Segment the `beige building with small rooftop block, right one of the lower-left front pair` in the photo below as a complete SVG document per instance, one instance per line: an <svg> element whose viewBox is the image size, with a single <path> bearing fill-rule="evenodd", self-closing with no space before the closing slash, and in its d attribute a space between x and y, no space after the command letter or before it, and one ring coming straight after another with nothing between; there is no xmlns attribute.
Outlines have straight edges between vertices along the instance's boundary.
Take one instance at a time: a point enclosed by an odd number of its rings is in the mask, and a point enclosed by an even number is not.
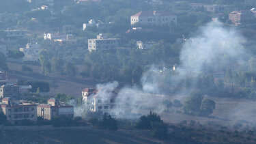
<svg viewBox="0 0 256 144"><path fill-rule="evenodd" d="M39 104L37 107L38 117L51 120L55 117L74 118L74 106L59 102L55 98L50 98L48 104Z"/></svg>

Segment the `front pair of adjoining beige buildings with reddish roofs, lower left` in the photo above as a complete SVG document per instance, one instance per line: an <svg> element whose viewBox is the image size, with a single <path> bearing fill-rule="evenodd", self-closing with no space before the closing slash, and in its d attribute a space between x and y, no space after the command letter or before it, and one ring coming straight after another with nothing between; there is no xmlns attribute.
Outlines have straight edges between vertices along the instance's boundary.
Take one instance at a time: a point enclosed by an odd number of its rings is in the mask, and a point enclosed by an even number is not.
<svg viewBox="0 0 256 144"><path fill-rule="evenodd" d="M12 124L20 124L25 119L35 122L38 117L48 120L55 117L67 117L70 119L74 117L74 106L59 102L54 98L50 98L48 104L37 104L5 97L2 98L0 105L0 111L6 115L7 120Z"/></svg>

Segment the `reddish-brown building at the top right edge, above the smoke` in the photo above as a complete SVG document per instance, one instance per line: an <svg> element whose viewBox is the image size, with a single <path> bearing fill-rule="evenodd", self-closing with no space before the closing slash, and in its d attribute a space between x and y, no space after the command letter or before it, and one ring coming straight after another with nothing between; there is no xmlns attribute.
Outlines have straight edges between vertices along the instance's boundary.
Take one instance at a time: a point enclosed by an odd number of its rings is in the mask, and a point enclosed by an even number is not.
<svg viewBox="0 0 256 144"><path fill-rule="evenodd" d="M229 20L235 25L251 22L255 18L250 10L233 11L229 14Z"/></svg>

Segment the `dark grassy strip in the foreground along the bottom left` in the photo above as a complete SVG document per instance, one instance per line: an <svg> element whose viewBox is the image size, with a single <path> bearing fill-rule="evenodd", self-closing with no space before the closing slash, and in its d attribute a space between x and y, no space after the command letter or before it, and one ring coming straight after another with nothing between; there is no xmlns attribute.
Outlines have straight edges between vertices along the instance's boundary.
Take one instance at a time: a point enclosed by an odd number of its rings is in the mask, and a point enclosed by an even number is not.
<svg viewBox="0 0 256 144"><path fill-rule="evenodd" d="M116 132L93 128L1 128L0 143L165 143L146 136L141 131Z"/></svg>

